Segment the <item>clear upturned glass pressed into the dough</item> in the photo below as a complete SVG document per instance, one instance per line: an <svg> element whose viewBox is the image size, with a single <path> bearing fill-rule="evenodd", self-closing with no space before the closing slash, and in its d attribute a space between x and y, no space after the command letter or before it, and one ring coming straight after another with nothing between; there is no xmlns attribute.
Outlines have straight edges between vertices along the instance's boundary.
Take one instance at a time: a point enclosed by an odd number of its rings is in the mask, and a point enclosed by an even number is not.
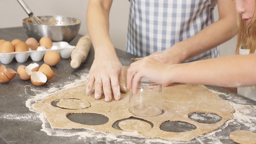
<svg viewBox="0 0 256 144"><path fill-rule="evenodd" d="M158 116L162 114L162 87L146 78L142 78L138 86L138 93L132 94L128 110L136 116Z"/></svg>

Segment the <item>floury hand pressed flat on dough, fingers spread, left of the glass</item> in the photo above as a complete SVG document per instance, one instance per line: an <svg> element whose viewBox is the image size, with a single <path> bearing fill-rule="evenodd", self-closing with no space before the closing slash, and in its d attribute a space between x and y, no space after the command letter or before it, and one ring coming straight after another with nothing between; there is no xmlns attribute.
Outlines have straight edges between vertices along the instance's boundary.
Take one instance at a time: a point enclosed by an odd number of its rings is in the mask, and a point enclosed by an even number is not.
<svg viewBox="0 0 256 144"><path fill-rule="evenodd" d="M106 102L112 100L111 89L114 100L120 100L120 90L125 93L126 86L125 72L117 56L109 56L108 54L100 54L98 57L95 56L86 86L87 94L92 92L93 85L95 88L95 99L101 98L103 88Z"/></svg>

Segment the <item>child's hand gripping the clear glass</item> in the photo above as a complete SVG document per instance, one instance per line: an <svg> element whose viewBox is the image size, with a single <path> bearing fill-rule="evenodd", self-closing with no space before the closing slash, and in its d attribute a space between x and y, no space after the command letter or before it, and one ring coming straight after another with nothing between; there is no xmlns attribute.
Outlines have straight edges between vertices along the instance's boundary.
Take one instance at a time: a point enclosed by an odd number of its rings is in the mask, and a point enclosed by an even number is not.
<svg viewBox="0 0 256 144"><path fill-rule="evenodd" d="M127 88L132 88L132 91L136 94L142 77L168 86L172 82L169 82L166 76L168 76L168 69L172 66L174 65L164 64L152 57L145 57L142 60L133 62L127 70Z"/></svg>

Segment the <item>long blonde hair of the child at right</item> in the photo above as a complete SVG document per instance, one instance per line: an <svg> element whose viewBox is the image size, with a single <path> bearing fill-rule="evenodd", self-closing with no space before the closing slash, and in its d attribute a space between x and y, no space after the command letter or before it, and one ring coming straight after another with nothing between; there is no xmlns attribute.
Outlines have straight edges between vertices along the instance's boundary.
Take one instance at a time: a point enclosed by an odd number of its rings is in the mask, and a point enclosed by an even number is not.
<svg viewBox="0 0 256 144"><path fill-rule="evenodd" d="M255 2L256 8L256 2ZM254 10L255 13L255 10ZM246 21L242 20L242 15L237 14L238 21L238 34L237 34L237 44L235 54L239 54L239 48L241 45L245 49L250 49L250 53L254 53L256 50L256 18L253 18L249 24L246 24Z"/></svg>

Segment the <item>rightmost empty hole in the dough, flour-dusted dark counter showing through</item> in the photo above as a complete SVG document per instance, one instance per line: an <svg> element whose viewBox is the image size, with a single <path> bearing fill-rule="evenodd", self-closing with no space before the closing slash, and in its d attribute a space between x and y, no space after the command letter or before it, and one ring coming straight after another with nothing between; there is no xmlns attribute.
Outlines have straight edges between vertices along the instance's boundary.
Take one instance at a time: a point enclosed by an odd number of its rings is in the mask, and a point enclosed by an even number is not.
<svg viewBox="0 0 256 144"><path fill-rule="evenodd" d="M193 112L188 115L188 118L203 124L215 124L216 122L220 122L222 119L218 114L205 112Z"/></svg>

